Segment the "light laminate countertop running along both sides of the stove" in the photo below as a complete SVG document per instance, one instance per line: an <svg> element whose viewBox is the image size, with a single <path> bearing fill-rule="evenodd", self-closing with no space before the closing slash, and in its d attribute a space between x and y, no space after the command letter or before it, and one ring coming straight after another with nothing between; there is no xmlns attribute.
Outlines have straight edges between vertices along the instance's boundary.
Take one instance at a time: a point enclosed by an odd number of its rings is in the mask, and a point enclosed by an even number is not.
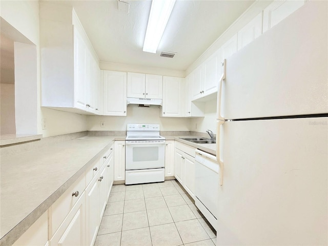
<svg viewBox="0 0 328 246"><path fill-rule="evenodd" d="M112 141L125 137L84 136L1 158L1 244L26 231ZM178 136L165 137L216 154L215 144L199 145Z"/></svg>

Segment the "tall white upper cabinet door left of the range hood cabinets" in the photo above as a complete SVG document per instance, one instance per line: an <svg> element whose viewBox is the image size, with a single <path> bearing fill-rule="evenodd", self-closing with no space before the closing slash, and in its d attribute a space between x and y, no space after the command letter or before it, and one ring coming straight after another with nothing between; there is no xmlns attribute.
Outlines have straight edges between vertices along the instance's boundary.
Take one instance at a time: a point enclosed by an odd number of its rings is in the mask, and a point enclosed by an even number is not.
<svg viewBox="0 0 328 246"><path fill-rule="evenodd" d="M104 70L104 115L127 115L127 73Z"/></svg>

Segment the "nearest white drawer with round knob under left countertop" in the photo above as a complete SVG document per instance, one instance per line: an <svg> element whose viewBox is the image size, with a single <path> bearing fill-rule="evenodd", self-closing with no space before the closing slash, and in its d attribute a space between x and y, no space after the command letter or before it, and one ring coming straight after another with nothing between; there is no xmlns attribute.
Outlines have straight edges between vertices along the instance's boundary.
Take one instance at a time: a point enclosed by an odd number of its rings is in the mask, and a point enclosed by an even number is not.
<svg viewBox="0 0 328 246"><path fill-rule="evenodd" d="M51 219L49 226L49 234L52 236L53 233L57 231L61 222L64 221L68 213L73 208L76 201L79 199L81 194L86 189L86 175L81 175L73 185L67 189L67 191L61 195L51 206ZM78 192L78 195L72 195L75 192Z"/></svg>

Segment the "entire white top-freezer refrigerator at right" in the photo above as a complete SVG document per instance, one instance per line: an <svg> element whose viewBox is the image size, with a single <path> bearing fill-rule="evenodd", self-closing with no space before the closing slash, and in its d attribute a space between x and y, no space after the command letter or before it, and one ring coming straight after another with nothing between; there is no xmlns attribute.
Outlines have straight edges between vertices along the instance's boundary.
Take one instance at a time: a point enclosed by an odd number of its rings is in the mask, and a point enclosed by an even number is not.
<svg viewBox="0 0 328 246"><path fill-rule="evenodd" d="M216 245L328 245L327 23L306 2L226 60Z"/></svg>

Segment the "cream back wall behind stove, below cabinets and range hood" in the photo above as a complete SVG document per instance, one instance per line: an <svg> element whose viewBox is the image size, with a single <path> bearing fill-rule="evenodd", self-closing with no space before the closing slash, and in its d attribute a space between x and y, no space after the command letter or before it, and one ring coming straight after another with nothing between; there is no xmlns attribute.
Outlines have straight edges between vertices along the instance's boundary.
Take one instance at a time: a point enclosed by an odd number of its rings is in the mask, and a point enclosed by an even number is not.
<svg viewBox="0 0 328 246"><path fill-rule="evenodd" d="M190 131L189 118L159 117L159 106L149 108L130 105L127 116L88 116L89 131L126 131L127 124L159 124L161 131ZM100 127L100 121L105 127Z"/></svg>

